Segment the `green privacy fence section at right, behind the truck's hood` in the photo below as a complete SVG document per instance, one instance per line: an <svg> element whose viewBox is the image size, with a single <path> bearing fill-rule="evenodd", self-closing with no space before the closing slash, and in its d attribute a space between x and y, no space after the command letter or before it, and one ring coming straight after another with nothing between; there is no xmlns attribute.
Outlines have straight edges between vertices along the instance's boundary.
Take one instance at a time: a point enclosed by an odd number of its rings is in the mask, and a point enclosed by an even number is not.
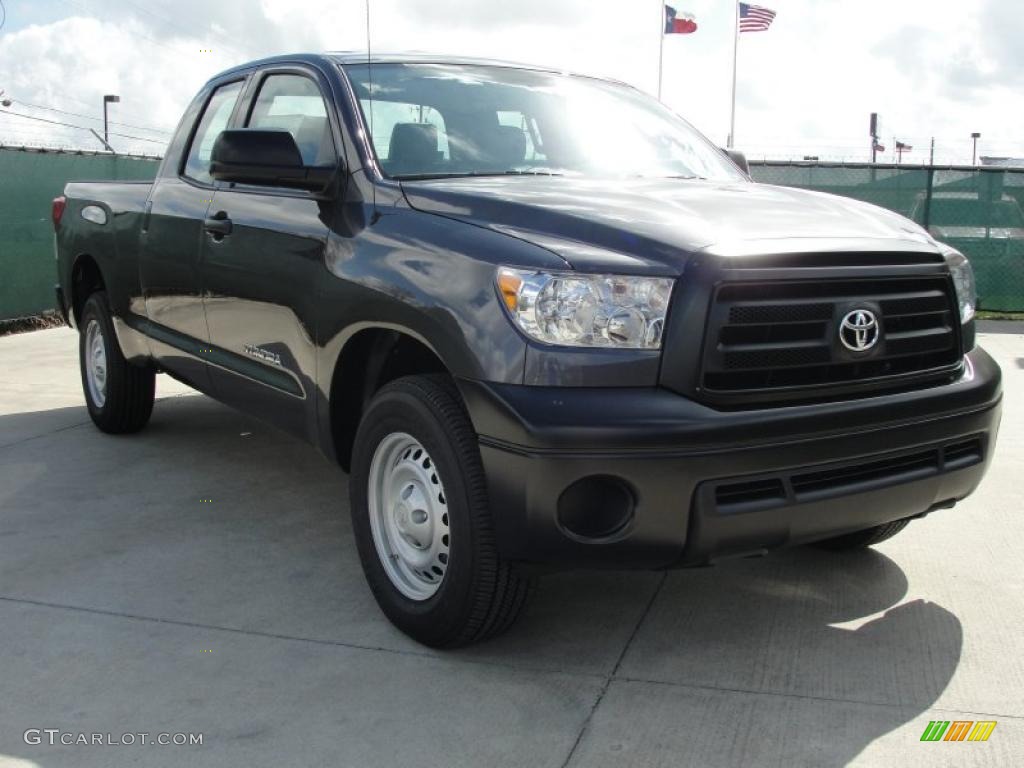
<svg viewBox="0 0 1024 768"><path fill-rule="evenodd" d="M1024 310L1024 169L752 163L754 178L889 208L962 251L980 306Z"/></svg>

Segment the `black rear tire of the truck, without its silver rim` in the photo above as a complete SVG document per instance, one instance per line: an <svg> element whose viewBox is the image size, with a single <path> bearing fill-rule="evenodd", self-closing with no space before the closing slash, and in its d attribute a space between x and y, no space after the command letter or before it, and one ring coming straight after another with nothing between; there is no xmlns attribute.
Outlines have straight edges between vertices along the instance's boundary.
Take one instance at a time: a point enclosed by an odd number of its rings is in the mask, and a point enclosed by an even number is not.
<svg viewBox="0 0 1024 768"><path fill-rule="evenodd" d="M102 402L89 387L90 326L95 324L102 337L105 356L105 385ZM157 390L157 374L152 368L133 366L125 359L114 332L106 294L97 291L89 296L82 307L78 340L79 368L82 372L82 390L92 422L104 432L124 434L137 432L150 421L153 400Z"/></svg>

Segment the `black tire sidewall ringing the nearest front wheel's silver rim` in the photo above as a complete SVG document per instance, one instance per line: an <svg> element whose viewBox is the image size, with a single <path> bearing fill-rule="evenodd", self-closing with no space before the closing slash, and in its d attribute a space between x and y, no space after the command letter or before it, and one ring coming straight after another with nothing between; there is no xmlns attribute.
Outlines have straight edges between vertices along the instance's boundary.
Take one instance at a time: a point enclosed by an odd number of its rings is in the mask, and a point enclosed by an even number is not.
<svg viewBox="0 0 1024 768"><path fill-rule="evenodd" d="M426 600L406 597L384 570L370 526L370 465L380 442L406 432L426 450L437 468L447 502L450 550L444 578ZM399 629L427 644L443 644L445 628L465 622L477 575L476 539L470 494L461 467L478 457L461 456L457 441L431 406L402 389L383 391L373 400L355 437L349 478L352 526L370 588L381 608Z"/></svg>

